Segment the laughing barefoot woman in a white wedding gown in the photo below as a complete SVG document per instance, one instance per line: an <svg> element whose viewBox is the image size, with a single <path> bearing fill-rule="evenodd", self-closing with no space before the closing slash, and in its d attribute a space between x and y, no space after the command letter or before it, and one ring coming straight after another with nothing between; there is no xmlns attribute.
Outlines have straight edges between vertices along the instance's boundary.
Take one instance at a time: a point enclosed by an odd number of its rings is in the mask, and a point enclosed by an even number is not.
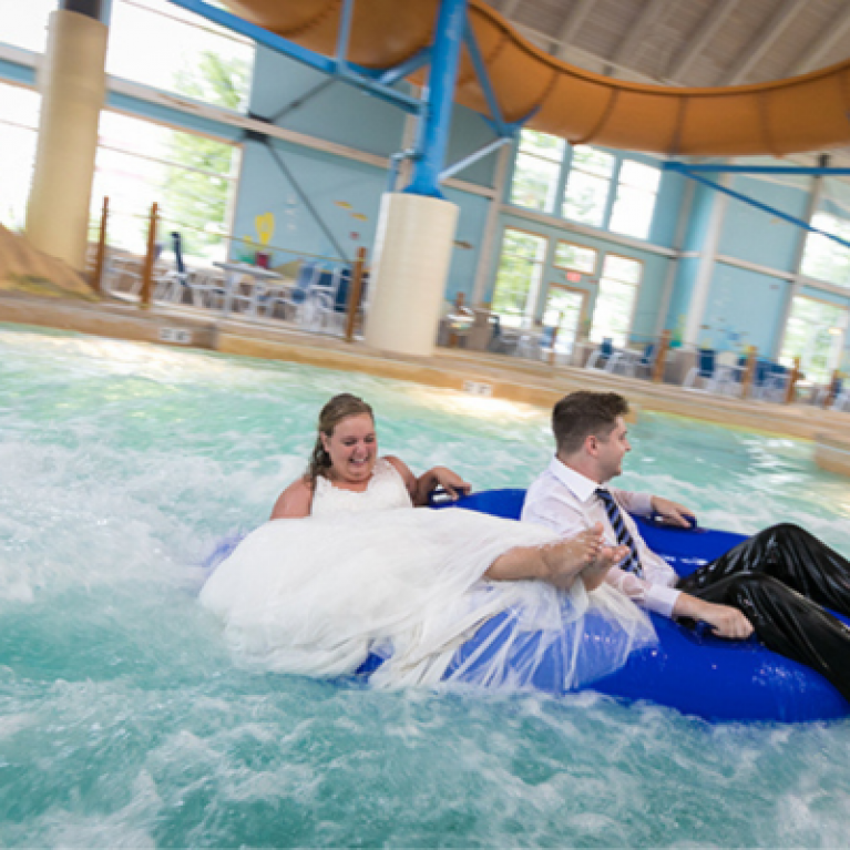
<svg viewBox="0 0 850 850"><path fill-rule="evenodd" d="M443 467L417 478L398 458L380 458L371 408L336 396L319 416L306 474L218 566L201 601L245 660L336 676L377 655L371 682L380 686L523 687L554 654L567 690L654 642L646 615L602 583L626 550L604 546L601 526L562 540L457 508L413 510L438 487L452 498L469 490ZM502 612L509 626L491 629L474 663L452 664ZM586 637L595 618L604 639Z"/></svg>

